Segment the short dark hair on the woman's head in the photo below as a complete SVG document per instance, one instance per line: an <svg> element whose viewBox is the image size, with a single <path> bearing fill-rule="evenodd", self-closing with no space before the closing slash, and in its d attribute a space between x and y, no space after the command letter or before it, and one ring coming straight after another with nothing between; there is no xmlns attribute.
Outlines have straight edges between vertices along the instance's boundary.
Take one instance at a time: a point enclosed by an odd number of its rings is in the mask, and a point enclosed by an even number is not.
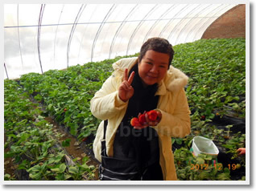
<svg viewBox="0 0 256 191"><path fill-rule="evenodd" d="M145 43L143 43L139 55L138 55L138 63L142 61L143 56L147 51L157 51L160 53L164 53L170 56L169 58L169 67L171 65L171 61L173 59L174 51L172 49L171 44L167 41L167 39L154 37L151 39L147 39Z"/></svg>

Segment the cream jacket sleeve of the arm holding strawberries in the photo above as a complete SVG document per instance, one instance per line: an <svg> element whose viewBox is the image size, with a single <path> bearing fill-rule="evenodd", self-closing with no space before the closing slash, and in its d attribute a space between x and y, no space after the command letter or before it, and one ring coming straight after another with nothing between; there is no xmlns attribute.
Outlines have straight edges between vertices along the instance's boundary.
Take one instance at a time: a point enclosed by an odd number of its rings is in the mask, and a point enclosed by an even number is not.
<svg viewBox="0 0 256 191"><path fill-rule="evenodd" d="M175 110L172 114L164 112L159 124L153 128L165 136L184 137L190 133L190 110L184 89L181 89L175 102Z"/></svg>

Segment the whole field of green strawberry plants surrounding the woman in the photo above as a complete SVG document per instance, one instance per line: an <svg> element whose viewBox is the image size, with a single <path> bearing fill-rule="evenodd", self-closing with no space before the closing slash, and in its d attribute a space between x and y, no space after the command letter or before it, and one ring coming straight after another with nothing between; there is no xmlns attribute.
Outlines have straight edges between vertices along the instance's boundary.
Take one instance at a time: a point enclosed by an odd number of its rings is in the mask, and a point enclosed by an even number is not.
<svg viewBox="0 0 256 191"><path fill-rule="evenodd" d="M189 76L192 112L191 134L172 139L178 179L246 180L245 156L236 152L246 147L246 40L201 39L174 50L172 65ZM97 180L92 144L100 121L89 104L118 59L5 79L6 181ZM193 156L194 136L213 140L225 160Z"/></svg>

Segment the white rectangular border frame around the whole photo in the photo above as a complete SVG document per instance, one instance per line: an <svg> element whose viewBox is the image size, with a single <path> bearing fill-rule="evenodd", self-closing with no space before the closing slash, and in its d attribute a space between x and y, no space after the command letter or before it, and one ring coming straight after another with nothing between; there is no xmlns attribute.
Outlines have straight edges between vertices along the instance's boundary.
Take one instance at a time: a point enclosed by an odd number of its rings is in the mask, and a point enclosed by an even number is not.
<svg viewBox="0 0 256 191"><path fill-rule="evenodd" d="M123 0L122 0L123 1ZM73 0L67 1L56 1L56 0L47 0L47 1L13 1L9 0L6 1L4 0L1 2L1 10L3 13L3 5L4 4L11 4L11 3L155 3L153 0L142 0L142 1L129 1L129 2L122 2L118 0L113 0L113 1L98 1L98 0L86 0L86 1L77 1ZM168 0L159 0L157 3L226 3L226 4L246 4L246 164L250 164L250 2L249 0L215 0L215 1L209 1L209 0L194 0L194 1L189 1L189 0L173 0L173 1L168 1ZM3 14L2 14L3 15ZM3 26L3 16L0 17L0 23ZM1 42L3 42L3 27L1 27ZM4 63L4 54L3 54L3 43L1 43L1 61ZM3 64L1 67L1 79L3 79ZM3 92L3 80L1 80L0 83L1 87L1 92ZM0 121L1 121L1 132L2 136L4 135L4 123L3 123L3 117L4 117L4 105L3 105L3 99L4 96L3 94L0 94L0 100L1 100L1 111L0 111ZM3 153L3 145L4 145L4 139L1 138L1 153ZM2 155L1 155L2 156ZM246 181L3 181L4 177L4 170L3 170L3 156L0 161L1 165L1 183L2 185L250 185L250 165L246 165ZM254 165L254 164L251 164ZM5 187L6 188L6 187ZM103 189L103 188L102 188Z"/></svg>

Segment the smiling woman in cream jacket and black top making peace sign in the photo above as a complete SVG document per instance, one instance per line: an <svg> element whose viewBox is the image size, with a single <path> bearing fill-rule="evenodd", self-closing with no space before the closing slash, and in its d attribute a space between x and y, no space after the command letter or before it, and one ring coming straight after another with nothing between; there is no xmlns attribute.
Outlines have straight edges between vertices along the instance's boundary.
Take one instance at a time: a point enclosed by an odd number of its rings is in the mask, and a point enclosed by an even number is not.
<svg viewBox="0 0 256 191"><path fill-rule="evenodd" d="M134 161L134 165L123 167L138 172L133 180L177 179L171 137L190 133L190 111L184 91L188 77L171 66L173 55L166 39L148 39L138 58L121 59L113 64L113 75L91 100L93 116L108 122L107 156ZM157 111L156 122L151 123L147 116L142 128L130 125L132 117L151 110ZM93 142L99 161L103 135L102 121Z"/></svg>

